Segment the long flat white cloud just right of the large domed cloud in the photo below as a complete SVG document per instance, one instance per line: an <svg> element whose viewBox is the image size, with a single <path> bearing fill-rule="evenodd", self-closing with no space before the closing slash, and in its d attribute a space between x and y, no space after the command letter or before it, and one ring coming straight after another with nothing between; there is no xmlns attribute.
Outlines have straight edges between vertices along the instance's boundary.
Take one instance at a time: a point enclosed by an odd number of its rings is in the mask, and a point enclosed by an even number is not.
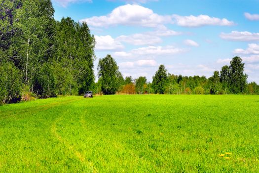
<svg viewBox="0 0 259 173"><path fill-rule="evenodd" d="M234 22L228 21L223 18L210 17L208 15L199 15L199 16L180 16L173 15L173 18L176 20L177 25L183 27L200 27L206 25L218 25L218 26L232 26L235 25Z"/></svg>

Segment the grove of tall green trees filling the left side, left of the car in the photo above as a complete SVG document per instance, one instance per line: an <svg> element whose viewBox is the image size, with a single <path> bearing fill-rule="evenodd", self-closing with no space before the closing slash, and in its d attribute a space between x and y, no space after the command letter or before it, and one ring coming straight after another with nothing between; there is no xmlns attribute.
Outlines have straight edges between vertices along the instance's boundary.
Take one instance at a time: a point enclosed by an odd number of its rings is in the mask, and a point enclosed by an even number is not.
<svg viewBox="0 0 259 173"><path fill-rule="evenodd" d="M51 0L0 0L0 103L90 89L94 47L86 23L54 20Z"/></svg>

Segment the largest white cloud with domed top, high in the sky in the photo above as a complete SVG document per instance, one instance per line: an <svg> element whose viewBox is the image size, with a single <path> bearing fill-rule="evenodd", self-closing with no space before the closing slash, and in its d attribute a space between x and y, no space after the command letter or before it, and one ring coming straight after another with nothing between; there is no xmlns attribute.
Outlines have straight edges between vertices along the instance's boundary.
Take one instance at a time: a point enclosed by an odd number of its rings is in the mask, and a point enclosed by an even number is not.
<svg viewBox="0 0 259 173"><path fill-rule="evenodd" d="M143 27L157 27L164 23L173 23L171 16L161 16L151 9L137 4L127 4L112 10L106 16L94 16L80 20L93 27L107 27L112 25L135 25Z"/></svg>

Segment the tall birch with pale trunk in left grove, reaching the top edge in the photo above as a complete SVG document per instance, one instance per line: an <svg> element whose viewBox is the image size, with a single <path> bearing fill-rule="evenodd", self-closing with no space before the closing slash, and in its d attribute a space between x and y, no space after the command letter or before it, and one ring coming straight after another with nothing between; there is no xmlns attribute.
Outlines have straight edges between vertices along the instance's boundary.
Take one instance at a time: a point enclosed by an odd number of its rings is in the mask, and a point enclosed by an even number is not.
<svg viewBox="0 0 259 173"><path fill-rule="evenodd" d="M10 54L23 74L24 84L33 86L33 78L53 48L54 9L50 0L21 0L21 8L13 15L16 34Z"/></svg>

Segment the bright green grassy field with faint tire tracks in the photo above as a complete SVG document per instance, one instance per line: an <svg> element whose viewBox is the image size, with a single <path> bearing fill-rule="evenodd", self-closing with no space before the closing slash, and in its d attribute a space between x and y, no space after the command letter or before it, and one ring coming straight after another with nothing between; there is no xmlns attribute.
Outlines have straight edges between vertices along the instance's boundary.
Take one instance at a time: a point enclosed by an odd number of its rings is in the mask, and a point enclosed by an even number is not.
<svg viewBox="0 0 259 173"><path fill-rule="evenodd" d="M259 96L70 96L3 105L0 172L259 172Z"/></svg>

